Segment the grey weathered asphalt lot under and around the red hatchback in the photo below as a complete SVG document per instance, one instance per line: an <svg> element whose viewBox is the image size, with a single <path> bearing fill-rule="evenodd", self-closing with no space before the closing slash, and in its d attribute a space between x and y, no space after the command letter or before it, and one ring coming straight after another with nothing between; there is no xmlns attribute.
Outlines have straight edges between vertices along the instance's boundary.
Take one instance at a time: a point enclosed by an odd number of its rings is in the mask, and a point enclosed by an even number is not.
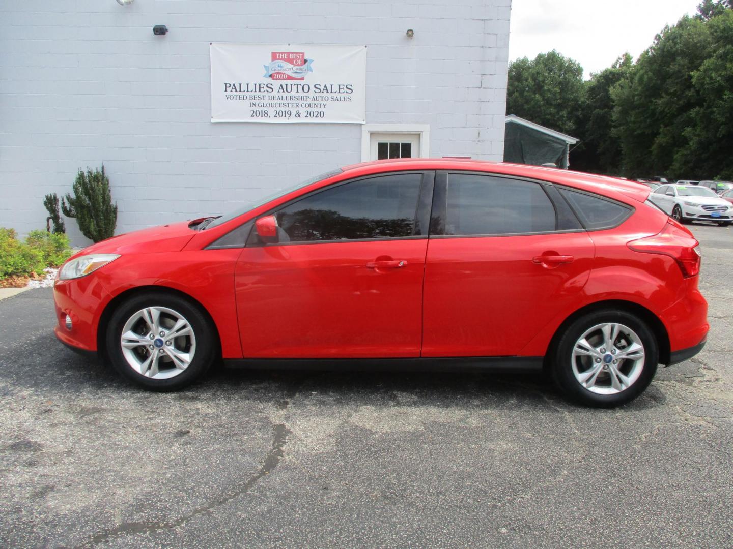
<svg viewBox="0 0 733 549"><path fill-rule="evenodd" d="M615 410L542 378L250 373L173 394L0 302L0 546L733 545L733 228L693 225L707 347Z"/></svg>

